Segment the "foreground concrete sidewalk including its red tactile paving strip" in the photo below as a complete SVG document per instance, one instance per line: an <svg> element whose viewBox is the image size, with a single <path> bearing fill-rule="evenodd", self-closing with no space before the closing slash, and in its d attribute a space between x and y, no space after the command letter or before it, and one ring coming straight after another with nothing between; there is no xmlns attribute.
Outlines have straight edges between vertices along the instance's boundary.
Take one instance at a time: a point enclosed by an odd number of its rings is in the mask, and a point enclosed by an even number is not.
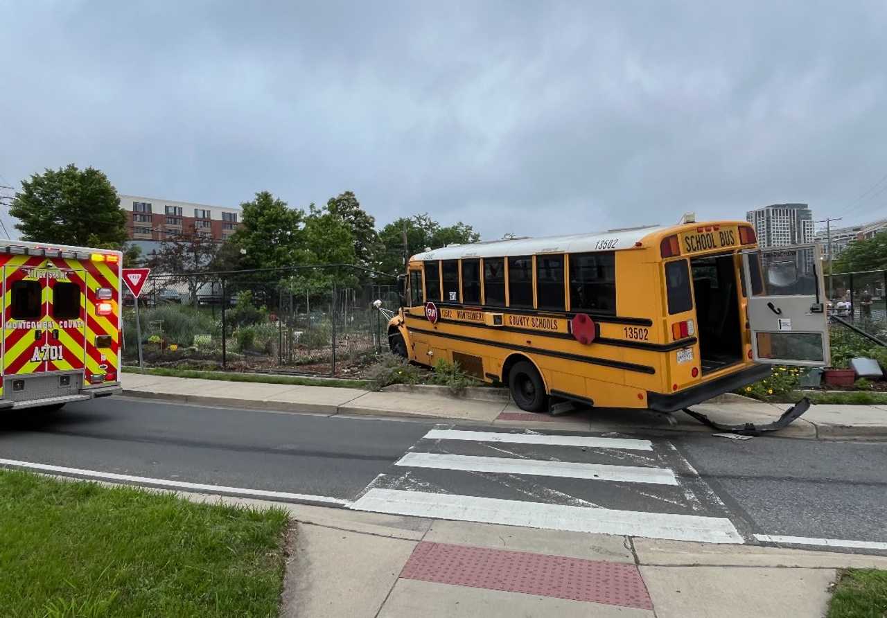
<svg viewBox="0 0 887 618"><path fill-rule="evenodd" d="M881 556L277 506L297 522L287 617L822 616L837 569L887 568Z"/></svg>

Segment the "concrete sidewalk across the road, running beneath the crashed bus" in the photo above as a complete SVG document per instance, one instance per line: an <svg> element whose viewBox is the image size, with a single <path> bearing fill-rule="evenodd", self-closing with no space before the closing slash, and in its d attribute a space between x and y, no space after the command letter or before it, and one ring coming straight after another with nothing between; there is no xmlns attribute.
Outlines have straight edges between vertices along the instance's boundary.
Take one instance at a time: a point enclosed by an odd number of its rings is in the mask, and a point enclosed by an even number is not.
<svg viewBox="0 0 887 618"><path fill-rule="evenodd" d="M703 431L683 412L677 425L648 411L592 409L551 417L531 414L500 400L466 399L426 392L371 392L358 388L290 386L230 382L214 379L166 378L122 373L123 394L179 403L229 408L311 412L326 415L371 415L451 419L491 426L565 429L570 431L632 432L642 429ZM702 403L694 406L711 419L725 423L766 423L779 418L789 404L753 401ZM887 406L812 405L810 410L778 434L797 438L887 438Z"/></svg>

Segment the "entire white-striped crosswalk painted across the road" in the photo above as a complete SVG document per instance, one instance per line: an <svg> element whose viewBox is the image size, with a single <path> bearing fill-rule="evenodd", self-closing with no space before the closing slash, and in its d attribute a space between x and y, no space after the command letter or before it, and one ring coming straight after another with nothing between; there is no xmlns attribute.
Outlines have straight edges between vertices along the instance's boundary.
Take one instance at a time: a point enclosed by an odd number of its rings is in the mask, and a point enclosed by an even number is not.
<svg viewBox="0 0 887 618"><path fill-rule="evenodd" d="M608 535L744 542L723 516L723 503L670 443L620 437L436 428L349 508Z"/></svg>

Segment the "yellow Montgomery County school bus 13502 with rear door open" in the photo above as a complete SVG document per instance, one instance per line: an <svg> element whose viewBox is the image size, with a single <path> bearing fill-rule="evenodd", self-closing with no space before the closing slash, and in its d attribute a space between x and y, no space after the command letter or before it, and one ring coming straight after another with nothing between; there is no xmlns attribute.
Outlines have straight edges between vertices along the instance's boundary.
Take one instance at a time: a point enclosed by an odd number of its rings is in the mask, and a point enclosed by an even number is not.
<svg viewBox="0 0 887 618"><path fill-rule="evenodd" d="M816 245L757 249L748 223L683 223L447 246L413 255L392 351L458 362L554 398L676 411L765 378L767 364L828 364Z"/></svg>

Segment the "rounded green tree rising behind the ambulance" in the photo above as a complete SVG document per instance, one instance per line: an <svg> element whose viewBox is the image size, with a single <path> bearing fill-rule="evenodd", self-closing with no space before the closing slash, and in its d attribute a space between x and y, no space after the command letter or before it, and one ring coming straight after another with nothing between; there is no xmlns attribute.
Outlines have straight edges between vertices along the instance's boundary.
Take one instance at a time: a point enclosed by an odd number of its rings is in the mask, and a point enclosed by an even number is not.
<svg viewBox="0 0 887 618"><path fill-rule="evenodd" d="M127 215L117 190L95 168L47 169L21 182L10 215L22 240L120 249L127 239Z"/></svg>

